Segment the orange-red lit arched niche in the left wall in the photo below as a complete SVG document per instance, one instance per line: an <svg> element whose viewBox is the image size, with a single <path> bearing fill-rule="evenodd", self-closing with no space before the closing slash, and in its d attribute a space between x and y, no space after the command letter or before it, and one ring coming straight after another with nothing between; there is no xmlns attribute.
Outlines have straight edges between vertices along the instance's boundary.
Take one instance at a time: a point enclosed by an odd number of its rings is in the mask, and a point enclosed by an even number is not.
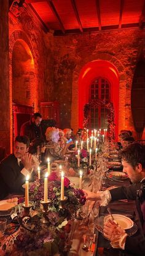
<svg viewBox="0 0 145 256"><path fill-rule="evenodd" d="M13 137L20 134L22 123L29 120L37 98L33 55L25 41L19 39L12 51Z"/></svg>

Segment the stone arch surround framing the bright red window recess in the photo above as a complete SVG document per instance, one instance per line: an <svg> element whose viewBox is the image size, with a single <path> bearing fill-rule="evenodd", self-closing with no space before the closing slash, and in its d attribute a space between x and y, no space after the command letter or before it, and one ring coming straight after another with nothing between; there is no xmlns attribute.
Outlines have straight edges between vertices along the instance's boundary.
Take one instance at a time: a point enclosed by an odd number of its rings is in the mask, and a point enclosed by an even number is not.
<svg viewBox="0 0 145 256"><path fill-rule="evenodd" d="M73 73L73 81L72 81L72 106L71 106L71 127L74 130L77 130L79 127L79 77L80 72L88 62L93 61L107 61L111 63L117 70L119 74L119 126L118 130L125 128L125 92L126 92L126 84L127 77L125 74L125 69L122 63L116 59L114 56L106 53L99 53L90 56L88 59L84 59L84 62L78 64ZM86 70L88 72L88 70Z"/></svg>

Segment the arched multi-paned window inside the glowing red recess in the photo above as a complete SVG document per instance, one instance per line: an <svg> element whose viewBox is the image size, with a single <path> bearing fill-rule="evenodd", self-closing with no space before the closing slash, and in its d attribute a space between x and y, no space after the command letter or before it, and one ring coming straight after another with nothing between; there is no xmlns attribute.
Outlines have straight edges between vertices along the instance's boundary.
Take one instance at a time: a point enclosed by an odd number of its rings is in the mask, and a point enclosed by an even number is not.
<svg viewBox="0 0 145 256"><path fill-rule="evenodd" d="M108 100L111 97L111 85L109 81L103 77L93 80L90 85L90 100ZM108 109L104 105L98 105L90 109L90 129L106 129L108 127Z"/></svg>

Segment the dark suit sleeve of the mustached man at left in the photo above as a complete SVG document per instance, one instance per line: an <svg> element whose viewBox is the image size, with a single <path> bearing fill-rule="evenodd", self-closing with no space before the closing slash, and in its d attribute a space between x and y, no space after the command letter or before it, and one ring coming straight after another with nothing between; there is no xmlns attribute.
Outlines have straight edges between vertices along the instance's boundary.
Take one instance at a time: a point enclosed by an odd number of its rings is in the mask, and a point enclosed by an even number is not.
<svg viewBox="0 0 145 256"><path fill-rule="evenodd" d="M10 193L23 191L22 184L25 183L25 176L20 173L19 166L1 163L0 172L2 180Z"/></svg>

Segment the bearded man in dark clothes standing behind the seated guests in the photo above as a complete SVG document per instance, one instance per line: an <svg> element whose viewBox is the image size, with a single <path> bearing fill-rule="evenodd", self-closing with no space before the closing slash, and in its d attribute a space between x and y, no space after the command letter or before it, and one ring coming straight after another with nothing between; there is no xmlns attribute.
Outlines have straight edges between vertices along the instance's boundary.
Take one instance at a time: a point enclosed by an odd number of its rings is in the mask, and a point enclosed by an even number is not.
<svg viewBox="0 0 145 256"><path fill-rule="evenodd" d="M43 139L42 129L41 129L42 116L40 113L34 113L31 117L31 121L22 124L20 129L20 135L26 135L29 137L30 142L34 139Z"/></svg>

